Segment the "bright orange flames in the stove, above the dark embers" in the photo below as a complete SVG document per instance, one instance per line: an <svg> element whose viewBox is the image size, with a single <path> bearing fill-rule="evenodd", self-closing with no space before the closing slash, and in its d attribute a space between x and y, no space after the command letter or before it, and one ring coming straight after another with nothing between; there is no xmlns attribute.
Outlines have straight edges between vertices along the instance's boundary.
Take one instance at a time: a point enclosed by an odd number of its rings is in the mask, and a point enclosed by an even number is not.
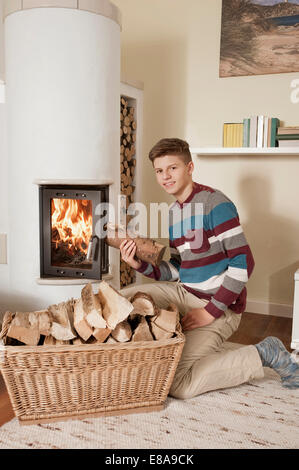
<svg viewBox="0 0 299 470"><path fill-rule="evenodd" d="M92 237L92 202L81 199L52 199L52 243L61 243L70 253L87 253Z"/></svg>

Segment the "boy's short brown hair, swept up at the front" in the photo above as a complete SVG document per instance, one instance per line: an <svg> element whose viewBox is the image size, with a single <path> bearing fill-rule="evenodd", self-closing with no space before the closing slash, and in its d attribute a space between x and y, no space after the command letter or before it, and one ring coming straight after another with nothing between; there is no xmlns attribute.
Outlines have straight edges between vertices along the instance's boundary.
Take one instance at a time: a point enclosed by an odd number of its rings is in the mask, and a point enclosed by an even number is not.
<svg viewBox="0 0 299 470"><path fill-rule="evenodd" d="M176 138L161 139L154 145L149 153L149 159L154 163L155 158L166 155L182 157L184 163L192 162L189 144L185 140Z"/></svg>

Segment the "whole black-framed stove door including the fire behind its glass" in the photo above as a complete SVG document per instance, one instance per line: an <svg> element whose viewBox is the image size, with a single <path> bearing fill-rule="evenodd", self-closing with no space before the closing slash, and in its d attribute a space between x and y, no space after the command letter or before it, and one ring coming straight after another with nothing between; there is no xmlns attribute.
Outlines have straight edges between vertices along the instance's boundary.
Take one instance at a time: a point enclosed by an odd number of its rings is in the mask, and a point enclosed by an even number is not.
<svg viewBox="0 0 299 470"><path fill-rule="evenodd" d="M102 278L108 273L108 246L95 227L109 202L106 185L41 185L40 276ZM105 214L106 215L106 214Z"/></svg>

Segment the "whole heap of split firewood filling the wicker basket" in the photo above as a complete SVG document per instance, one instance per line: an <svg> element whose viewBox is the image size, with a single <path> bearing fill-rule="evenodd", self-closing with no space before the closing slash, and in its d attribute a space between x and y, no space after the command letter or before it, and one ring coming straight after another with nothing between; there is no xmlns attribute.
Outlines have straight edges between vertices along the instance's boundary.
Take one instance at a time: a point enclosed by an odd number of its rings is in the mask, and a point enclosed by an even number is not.
<svg viewBox="0 0 299 470"><path fill-rule="evenodd" d="M0 339L7 346L124 343L174 336L179 312L161 309L148 294L127 299L105 281L95 294L91 284L79 299L35 312L6 312Z"/></svg>

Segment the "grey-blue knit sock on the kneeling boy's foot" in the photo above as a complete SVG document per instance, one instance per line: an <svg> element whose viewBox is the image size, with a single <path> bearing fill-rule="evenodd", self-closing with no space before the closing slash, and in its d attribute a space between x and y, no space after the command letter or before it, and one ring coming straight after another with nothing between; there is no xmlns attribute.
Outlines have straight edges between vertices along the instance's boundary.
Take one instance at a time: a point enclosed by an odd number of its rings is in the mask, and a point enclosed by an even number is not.
<svg viewBox="0 0 299 470"><path fill-rule="evenodd" d="M280 375L283 387L299 388L299 365L278 338L268 336L255 347L263 366L271 367Z"/></svg>

